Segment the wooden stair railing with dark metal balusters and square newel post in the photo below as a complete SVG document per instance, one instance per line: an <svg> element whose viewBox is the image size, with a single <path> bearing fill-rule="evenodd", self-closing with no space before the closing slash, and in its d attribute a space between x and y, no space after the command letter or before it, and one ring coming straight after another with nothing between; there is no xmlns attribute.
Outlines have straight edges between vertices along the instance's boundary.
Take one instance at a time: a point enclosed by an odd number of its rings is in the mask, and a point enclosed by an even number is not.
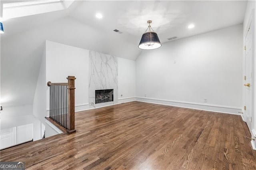
<svg viewBox="0 0 256 170"><path fill-rule="evenodd" d="M50 116L48 121L67 133L75 132L75 79L68 76L68 83L52 83L50 87Z"/></svg>

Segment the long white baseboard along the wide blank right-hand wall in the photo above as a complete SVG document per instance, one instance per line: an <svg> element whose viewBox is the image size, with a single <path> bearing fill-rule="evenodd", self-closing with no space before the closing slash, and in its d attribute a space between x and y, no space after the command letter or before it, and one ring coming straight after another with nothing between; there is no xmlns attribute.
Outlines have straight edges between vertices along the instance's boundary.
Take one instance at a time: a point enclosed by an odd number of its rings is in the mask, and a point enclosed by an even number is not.
<svg viewBox="0 0 256 170"><path fill-rule="evenodd" d="M211 104L192 103L192 102L183 102L183 101L171 101L171 100L154 99L154 98L148 98L148 97L136 97L136 101L184 107L184 108L190 108L190 109L198 109L198 110L204 110L204 111L213 111L213 112L219 112L219 113L229 113L234 115L241 115L238 112L241 112L242 110L242 108L240 107L211 105Z"/></svg>

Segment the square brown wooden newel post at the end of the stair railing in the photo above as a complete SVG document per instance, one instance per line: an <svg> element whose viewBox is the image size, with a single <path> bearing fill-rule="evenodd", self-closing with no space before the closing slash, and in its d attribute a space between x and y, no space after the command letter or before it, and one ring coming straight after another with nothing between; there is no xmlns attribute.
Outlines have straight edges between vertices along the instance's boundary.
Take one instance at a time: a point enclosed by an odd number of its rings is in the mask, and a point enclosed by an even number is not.
<svg viewBox="0 0 256 170"><path fill-rule="evenodd" d="M75 132L75 76L68 76L68 130Z"/></svg>

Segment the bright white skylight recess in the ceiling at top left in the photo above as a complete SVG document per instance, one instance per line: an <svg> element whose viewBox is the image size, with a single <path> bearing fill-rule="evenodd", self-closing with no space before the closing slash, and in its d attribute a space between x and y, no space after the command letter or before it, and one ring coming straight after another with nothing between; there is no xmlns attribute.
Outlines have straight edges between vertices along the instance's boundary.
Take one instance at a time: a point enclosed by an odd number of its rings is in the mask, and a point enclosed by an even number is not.
<svg viewBox="0 0 256 170"><path fill-rule="evenodd" d="M30 0L3 4L4 19L67 9L74 0Z"/></svg>

